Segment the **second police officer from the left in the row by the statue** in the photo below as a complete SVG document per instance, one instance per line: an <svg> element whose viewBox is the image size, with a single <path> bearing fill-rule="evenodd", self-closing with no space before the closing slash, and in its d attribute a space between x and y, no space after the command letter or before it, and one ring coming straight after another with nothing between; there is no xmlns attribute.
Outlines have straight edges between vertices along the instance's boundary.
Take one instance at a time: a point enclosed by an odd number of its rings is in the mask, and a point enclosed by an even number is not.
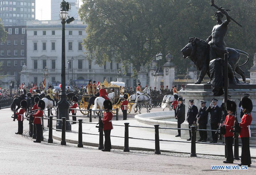
<svg viewBox="0 0 256 175"><path fill-rule="evenodd" d="M197 118L197 113L198 113L198 108L197 106L194 105L194 100L189 100L189 108L187 111L187 122L189 123L189 129L190 127L196 123L196 118ZM189 139L187 141L191 140L191 130L189 130Z"/></svg>

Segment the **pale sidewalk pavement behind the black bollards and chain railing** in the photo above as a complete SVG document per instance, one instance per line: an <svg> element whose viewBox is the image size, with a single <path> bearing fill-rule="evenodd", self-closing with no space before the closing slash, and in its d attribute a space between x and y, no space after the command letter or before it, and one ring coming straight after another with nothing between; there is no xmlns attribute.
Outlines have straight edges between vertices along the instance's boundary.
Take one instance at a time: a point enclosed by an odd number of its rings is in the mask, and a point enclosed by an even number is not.
<svg viewBox="0 0 256 175"><path fill-rule="evenodd" d="M124 125L124 123L130 123L130 126L138 126L135 119L129 120L119 120L112 121L113 130L111 131L111 144L113 149L123 149L124 147L124 138L118 138L113 136L122 136L124 137L124 126L115 126ZM78 131L78 124L73 124L72 131ZM98 128L95 127L96 122L93 123L83 123L82 132L90 134L99 134ZM48 135L48 131L44 133ZM99 136L98 135L89 135L83 134L83 144L87 146L97 146L99 145ZM129 127L129 137L134 138L145 138L152 140L139 140L129 138L129 148L130 150L144 150L144 151L154 151L155 142L154 142L154 129L152 131L145 131L136 127ZM61 140L61 131L53 130L53 138ZM161 134L159 133L159 138L162 140L177 140L177 141L186 141L180 137L175 137L174 135ZM78 133L66 132L66 141L70 143L78 143ZM190 153L191 143L182 143L182 142L166 142L160 141L160 150L162 152L179 152L179 153ZM256 148L250 148L251 157L256 157ZM207 155L225 155L224 145L210 145L210 144L196 144L196 153L197 154L207 154ZM239 147L239 155L241 155L241 147Z"/></svg>

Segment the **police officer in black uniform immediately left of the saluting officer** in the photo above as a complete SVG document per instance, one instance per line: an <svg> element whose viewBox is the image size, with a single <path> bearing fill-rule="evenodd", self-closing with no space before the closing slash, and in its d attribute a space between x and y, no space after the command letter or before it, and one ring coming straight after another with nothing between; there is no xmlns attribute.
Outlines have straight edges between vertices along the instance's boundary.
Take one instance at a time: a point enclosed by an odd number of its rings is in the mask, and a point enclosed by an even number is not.
<svg viewBox="0 0 256 175"><path fill-rule="evenodd" d="M206 102L201 101L201 108L197 114L197 120L199 124L199 129L206 129L208 123L208 112L206 112L207 107L205 106ZM206 142L207 140L207 131L199 131L200 139L197 142Z"/></svg>

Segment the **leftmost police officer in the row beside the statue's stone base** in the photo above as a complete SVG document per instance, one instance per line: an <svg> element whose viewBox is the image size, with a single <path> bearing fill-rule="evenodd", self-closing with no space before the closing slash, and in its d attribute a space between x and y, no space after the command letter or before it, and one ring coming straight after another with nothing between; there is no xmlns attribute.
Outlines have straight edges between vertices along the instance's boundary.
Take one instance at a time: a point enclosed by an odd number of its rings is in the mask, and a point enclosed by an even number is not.
<svg viewBox="0 0 256 175"><path fill-rule="evenodd" d="M178 105L175 109L175 118L178 120L178 128L180 128L181 123L185 121L185 104L183 104L183 99L181 97L178 98ZM178 129L178 135L176 137L180 137L180 130Z"/></svg>

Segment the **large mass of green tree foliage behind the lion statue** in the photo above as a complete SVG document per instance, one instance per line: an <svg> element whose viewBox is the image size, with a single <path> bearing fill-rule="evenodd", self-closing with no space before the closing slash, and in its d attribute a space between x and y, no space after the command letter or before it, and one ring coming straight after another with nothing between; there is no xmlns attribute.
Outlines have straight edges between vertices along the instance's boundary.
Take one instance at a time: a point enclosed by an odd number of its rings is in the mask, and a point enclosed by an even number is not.
<svg viewBox="0 0 256 175"><path fill-rule="evenodd" d="M231 9L234 22L228 26L226 47L255 52L255 9L254 0L222 0L216 5ZM127 70L130 63L133 70L151 63L153 56L168 50L174 56L177 73L184 73L190 60L183 59L180 50L189 37L206 40L216 25L209 0L83 0L80 17L87 23L87 36L83 46L89 61L98 65L115 59ZM246 57L241 56L241 63ZM166 60L162 60L162 64ZM252 59L242 67L247 71Z"/></svg>

